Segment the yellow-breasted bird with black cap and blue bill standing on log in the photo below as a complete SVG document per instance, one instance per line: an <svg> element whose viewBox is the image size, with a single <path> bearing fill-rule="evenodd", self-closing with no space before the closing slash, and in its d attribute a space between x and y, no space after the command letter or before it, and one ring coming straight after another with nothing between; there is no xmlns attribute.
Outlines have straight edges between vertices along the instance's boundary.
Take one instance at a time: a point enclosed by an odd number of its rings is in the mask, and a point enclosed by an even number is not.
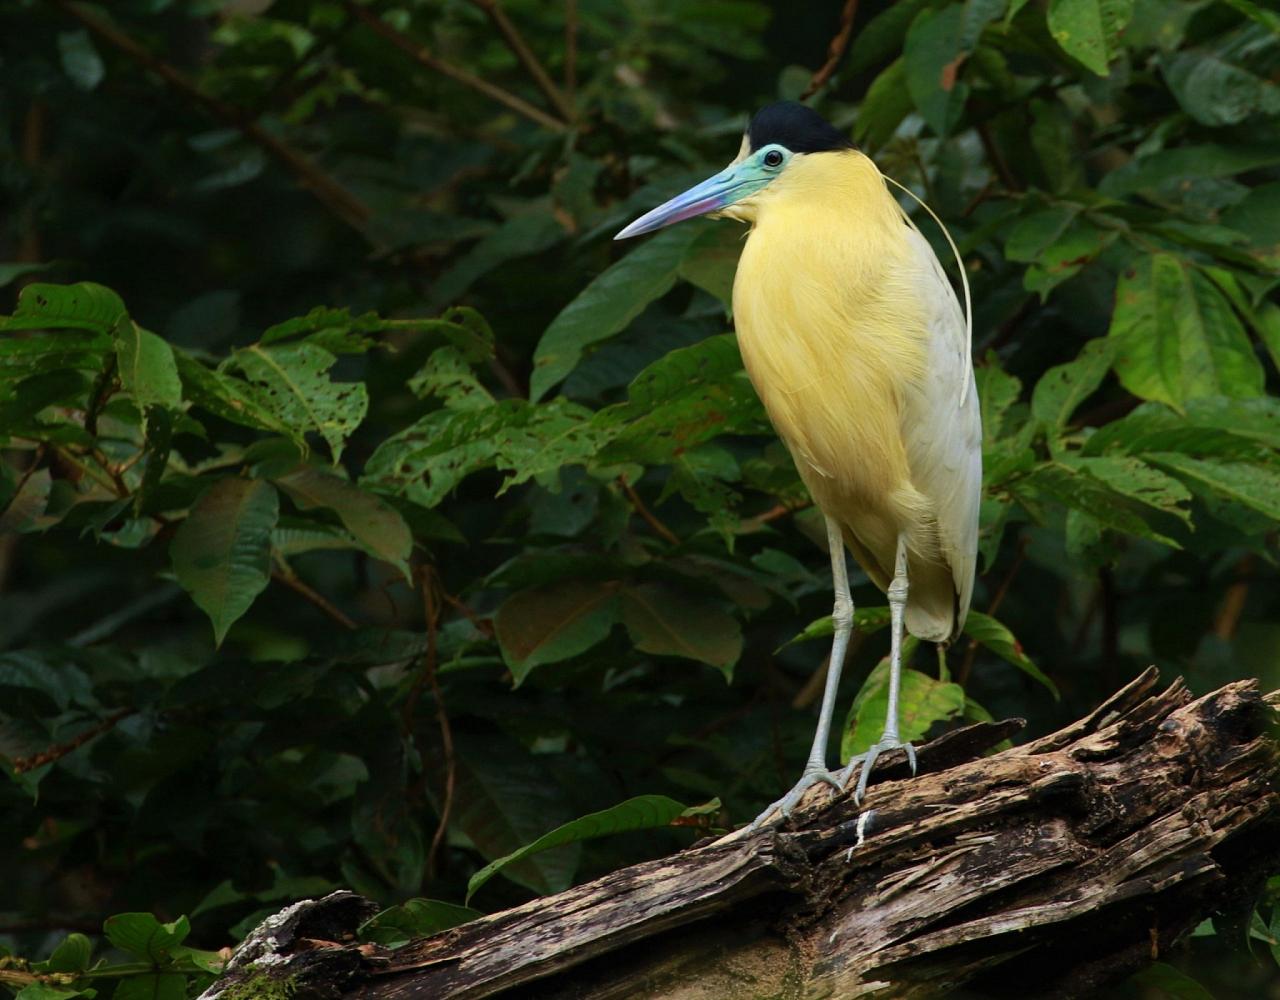
<svg viewBox="0 0 1280 1000"><path fill-rule="evenodd" d="M776 812L790 816L817 784L842 789L859 763L860 802L884 750L904 749L915 770L899 735L902 629L946 645L973 593L982 424L972 323L876 164L801 104L760 110L733 163L616 238L695 215L751 225L733 282L739 347L826 515L836 592L813 749L800 781L759 826ZM827 741L854 616L845 545L888 595L888 714L882 739L832 772Z"/></svg>

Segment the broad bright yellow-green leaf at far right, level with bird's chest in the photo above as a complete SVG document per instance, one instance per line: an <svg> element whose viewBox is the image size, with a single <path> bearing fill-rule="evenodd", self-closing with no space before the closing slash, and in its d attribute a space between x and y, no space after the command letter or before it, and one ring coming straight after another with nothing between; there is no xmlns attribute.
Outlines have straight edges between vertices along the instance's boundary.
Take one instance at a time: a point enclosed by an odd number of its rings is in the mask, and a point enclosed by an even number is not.
<svg viewBox="0 0 1280 1000"><path fill-rule="evenodd" d="M1265 373L1230 303L1198 268L1169 254L1121 278L1107 334L1126 389L1178 408L1202 396L1262 394Z"/></svg>

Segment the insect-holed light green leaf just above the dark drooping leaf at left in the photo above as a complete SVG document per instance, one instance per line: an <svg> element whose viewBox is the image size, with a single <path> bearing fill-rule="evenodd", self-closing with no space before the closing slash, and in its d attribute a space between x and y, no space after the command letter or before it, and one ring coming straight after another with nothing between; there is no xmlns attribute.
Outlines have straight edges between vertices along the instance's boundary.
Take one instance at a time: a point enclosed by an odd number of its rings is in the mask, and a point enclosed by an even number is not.
<svg viewBox="0 0 1280 1000"><path fill-rule="evenodd" d="M320 434L334 462L369 410L364 383L333 382L328 376L337 360L306 342L253 344L236 352L236 364L257 387L262 406L296 434Z"/></svg>

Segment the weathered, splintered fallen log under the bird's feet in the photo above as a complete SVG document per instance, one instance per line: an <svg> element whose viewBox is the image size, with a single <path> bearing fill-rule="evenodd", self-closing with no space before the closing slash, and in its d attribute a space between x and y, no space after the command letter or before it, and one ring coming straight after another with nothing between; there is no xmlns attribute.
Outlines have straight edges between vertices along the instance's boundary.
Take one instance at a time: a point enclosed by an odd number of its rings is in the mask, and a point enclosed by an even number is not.
<svg viewBox="0 0 1280 1000"><path fill-rule="evenodd" d="M948 734L909 781L886 758L863 809L818 791L785 827L394 951L329 944L328 908L357 899L334 894L296 912L320 930L276 935L274 968L297 997L361 1000L1084 996L1280 871L1280 697L1156 681L991 757L1019 722Z"/></svg>

